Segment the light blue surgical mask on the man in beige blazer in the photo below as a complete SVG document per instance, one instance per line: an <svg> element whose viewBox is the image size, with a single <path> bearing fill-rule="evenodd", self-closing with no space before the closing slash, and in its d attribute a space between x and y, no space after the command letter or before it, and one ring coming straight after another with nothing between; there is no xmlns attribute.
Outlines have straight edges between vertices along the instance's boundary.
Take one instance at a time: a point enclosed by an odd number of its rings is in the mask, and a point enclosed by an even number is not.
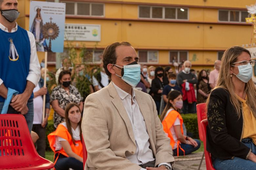
<svg viewBox="0 0 256 170"><path fill-rule="evenodd" d="M118 65L113 64L117 68L121 67ZM119 68L121 69L121 68ZM121 69L121 76L117 76L122 78L127 84L136 87L140 81L140 65L134 61L128 65L124 65Z"/></svg>

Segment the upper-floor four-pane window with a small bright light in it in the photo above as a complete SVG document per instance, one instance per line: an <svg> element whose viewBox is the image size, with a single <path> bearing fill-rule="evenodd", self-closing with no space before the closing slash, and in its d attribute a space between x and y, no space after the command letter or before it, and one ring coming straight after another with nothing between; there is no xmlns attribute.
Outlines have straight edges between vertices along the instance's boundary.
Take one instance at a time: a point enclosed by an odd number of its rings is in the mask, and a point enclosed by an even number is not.
<svg viewBox="0 0 256 170"><path fill-rule="evenodd" d="M188 20L188 8L139 6L139 18Z"/></svg>

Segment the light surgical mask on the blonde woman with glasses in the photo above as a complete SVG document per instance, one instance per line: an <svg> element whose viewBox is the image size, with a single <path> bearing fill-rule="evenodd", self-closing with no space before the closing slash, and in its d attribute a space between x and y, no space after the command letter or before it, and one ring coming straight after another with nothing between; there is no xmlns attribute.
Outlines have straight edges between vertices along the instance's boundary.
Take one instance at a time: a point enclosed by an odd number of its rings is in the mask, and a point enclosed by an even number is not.
<svg viewBox="0 0 256 170"><path fill-rule="evenodd" d="M252 77L252 66L251 64L247 64L246 67L243 67L243 65L239 65L239 66L236 66L236 65L232 65L232 66L235 66L235 67L238 67L238 70L239 70L239 73L236 75L237 78L239 78L241 81L247 83L251 77Z"/></svg>

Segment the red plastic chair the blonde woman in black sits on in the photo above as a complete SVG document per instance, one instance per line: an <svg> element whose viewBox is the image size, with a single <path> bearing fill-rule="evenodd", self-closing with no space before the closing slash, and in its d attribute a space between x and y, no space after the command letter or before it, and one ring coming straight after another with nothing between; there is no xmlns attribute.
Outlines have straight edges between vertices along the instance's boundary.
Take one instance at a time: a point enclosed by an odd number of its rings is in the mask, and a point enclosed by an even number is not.
<svg viewBox="0 0 256 170"><path fill-rule="evenodd" d="M205 154L205 164L207 170L215 170L212 166L212 159L211 154L206 150L206 127L208 125L207 119L202 120L201 127L203 132L203 147L204 147L204 154Z"/></svg>

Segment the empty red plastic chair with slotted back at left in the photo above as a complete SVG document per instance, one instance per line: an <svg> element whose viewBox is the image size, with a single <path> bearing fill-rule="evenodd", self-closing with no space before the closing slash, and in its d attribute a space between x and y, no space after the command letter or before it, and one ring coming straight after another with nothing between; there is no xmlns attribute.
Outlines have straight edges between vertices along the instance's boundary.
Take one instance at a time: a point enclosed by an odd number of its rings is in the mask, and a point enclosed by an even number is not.
<svg viewBox="0 0 256 170"><path fill-rule="evenodd" d="M19 114L0 114L0 170L41 170L53 162L38 155L26 120Z"/></svg>

